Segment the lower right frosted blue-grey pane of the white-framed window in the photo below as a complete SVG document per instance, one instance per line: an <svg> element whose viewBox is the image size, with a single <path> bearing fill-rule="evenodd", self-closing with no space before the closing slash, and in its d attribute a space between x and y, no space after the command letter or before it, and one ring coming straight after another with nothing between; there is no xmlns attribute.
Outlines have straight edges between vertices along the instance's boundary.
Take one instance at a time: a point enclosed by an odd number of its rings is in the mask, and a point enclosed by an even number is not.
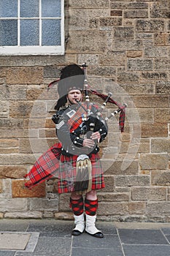
<svg viewBox="0 0 170 256"><path fill-rule="evenodd" d="M42 45L61 45L61 20L42 20Z"/></svg>

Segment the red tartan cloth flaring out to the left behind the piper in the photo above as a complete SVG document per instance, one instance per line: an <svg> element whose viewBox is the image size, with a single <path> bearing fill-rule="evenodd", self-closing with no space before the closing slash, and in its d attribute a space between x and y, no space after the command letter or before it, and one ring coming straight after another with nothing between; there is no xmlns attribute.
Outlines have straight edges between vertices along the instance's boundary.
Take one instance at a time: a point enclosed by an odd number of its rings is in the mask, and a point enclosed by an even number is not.
<svg viewBox="0 0 170 256"><path fill-rule="evenodd" d="M61 148L61 143L55 143L44 154L42 154L39 159L37 159L34 166L25 176L25 178L29 178L25 184L26 187L31 189L37 184L42 183L53 176L58 176Z"/></svg>

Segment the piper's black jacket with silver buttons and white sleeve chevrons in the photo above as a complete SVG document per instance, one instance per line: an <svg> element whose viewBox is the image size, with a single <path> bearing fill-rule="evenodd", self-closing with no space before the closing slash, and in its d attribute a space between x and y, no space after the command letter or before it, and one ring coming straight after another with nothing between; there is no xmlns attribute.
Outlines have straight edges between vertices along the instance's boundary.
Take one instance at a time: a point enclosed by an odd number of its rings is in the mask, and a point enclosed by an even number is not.
<svg viewBox="0 0 170 256"><path fill-rule="evenodd" d="M62 108L61 110L58 110L52 117L56 127L56 134L63 146L62 154L66 156L96 154L99 151L97 142L95 142L95 146L92 149L89 149L82 147L83 140L85 138L90 138L92 132L99 132L101 135L99 142L103 141L107 136L107 124L104 119L101 118L101 116L98 117L96 114L97 109L94 105L92 105L90 109L90 116L88 116L87 120L82 120L82 124L80 124L77 129L70 132L70 127L68 125L70 113L76 115L77 108L81 107L76 104Z"/></svg>

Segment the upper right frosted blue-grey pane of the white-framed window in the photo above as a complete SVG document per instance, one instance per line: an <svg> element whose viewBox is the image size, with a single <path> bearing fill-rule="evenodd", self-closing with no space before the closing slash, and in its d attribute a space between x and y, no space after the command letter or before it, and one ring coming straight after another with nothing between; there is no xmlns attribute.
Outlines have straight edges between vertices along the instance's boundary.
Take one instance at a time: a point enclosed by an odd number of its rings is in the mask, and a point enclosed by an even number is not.
<svg viewBox="0 0 170 256"><path fill-rule="evenodd" d="M42 0L42 17L61 17L61 0Z"/></svg>

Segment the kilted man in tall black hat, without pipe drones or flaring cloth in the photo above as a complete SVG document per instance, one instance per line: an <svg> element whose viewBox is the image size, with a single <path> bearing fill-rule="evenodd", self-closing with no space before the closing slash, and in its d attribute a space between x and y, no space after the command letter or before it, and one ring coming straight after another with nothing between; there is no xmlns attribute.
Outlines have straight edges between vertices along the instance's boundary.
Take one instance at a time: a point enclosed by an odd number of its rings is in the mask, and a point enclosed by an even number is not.
<svg viewBox="0 0 170 256"><path fill-rule="evenodd" d="M70 206L75 223L72 235L78 236L85 230L96 238L103 238L103 233L95 226L98 208L96 189L104 188L98 142L107 136L107 124L95 115L95 105L82 102L84 80L83 70L72 64L62 69L58 83L60 99L53 116L62 144L58 192L71 192ZM85 195L85 200L82 195Z"/></svg>

